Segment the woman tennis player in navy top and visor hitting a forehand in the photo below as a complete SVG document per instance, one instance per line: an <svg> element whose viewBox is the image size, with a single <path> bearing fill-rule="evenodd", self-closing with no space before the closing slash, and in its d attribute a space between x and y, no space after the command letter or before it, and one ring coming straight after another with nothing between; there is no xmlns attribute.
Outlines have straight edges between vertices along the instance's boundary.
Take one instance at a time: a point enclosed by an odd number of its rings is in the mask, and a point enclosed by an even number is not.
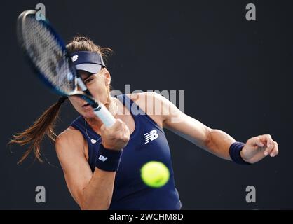
<svg viewBox="0 0 293 224"><path fill-rule="evenodd" d="M238 142L182 113L160 94L111 97L111 76L102 59L110 49L81 36L74 38L67 49L88 90L116 118L113 126L106 127L83 99L69 97L80 116L59 134L55 147L69 191L81 209L181 209L163 128L242 165L250 165L266 155L278 155L278 144L270 134L252 137L245 144ZM29 144L20 162L31 151L41 160L41 140L45 135L55 139L53 126L64 100L60 98L32 127L15 135L11 142ZM169 113L155 113L158 104ZM163 162L170 170L165 186L150 188L143 183L140 169L149 161Z"/></svg>

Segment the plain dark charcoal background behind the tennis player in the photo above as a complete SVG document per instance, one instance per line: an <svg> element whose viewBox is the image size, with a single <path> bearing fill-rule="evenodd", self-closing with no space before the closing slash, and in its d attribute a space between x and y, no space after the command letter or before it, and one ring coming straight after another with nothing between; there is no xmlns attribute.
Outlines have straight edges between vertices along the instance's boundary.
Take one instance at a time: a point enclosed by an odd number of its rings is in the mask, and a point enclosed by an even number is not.
<svg viewBox="0 0 293 224"><path fill-rule="evenodd" d="M160 2L160 3L158 3ZM1 4L0 209L79 209L69 195L53 144L48 162L16 162L6 147L56 101L37 80L16 42L15 21L40 1ZM112 48L114 88L185 90L185 112L238 141L271 134L280 154L246 167L166 132L182 209L292 209L292 3L290 1L42 1L65 41L77 33ZM257 21L245 20L254 3ZM77 114L69 103L57 132ZM46 187L46 203L34 201ZM246 186L257 202L245 202Z"/></svg>

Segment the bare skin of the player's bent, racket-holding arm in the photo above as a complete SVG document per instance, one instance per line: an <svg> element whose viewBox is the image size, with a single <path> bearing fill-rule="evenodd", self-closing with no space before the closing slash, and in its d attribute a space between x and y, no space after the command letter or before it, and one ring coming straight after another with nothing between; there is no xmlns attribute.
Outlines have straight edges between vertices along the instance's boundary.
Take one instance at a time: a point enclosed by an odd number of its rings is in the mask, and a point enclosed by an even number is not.
<svg viewBox="0 0 293 224"><path fill-rule="evenodd" d="M125 123L121 120L116 120L114 125L125 128ZM123 141L127 144L127 136L116 135L114 130L106 127L104 130L105 133L111 132L107 134L108 137L114 136L118 140L113 141L114 139L110 138L109 144L119 142L120 145L116 145L118 148L122 146ZM107 139L104 138L104 144L109 146ZM115 146L111 145L111 147ZM62 132L56 139L55 148L69 191L79 207L81 209L109 209L116 172L106 172L97 167L94 172L91 171L86 159L86 141L81 132L73 129Z"/></svg>

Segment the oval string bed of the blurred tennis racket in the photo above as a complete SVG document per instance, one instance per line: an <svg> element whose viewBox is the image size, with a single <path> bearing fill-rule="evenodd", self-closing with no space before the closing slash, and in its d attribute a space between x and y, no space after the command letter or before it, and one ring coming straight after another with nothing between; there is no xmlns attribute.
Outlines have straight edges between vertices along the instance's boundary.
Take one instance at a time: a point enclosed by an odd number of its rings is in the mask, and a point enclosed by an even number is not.
<svg viewBox="0 0 293 224"><path fill-rule="evenodd" d="M22 35L29 57L43 77L64 94L74 91L76 84L69 59L50 29L29 16L23 24Z"/></svg>

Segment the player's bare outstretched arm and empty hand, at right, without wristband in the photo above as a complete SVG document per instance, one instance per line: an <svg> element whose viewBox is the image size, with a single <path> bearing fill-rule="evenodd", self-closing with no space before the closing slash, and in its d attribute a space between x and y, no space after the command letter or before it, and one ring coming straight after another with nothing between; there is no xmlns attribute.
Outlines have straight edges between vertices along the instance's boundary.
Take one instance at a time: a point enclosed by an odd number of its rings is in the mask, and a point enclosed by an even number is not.
<svg viewBox="0 0 293 224"><path fill-rule="evenodd" d="M236 142L233 137L222 130L212 129L195 118L191 118L160 94L152 93L151 95L160 102L162 110L165 111L165 113L161 113L163 127L220 158L231 160L229 148L233 142ZM246 162L254 163L266 155L272 157L278 155L278 144L269 134L252 137L246 141L240 155Z"/></svg>

